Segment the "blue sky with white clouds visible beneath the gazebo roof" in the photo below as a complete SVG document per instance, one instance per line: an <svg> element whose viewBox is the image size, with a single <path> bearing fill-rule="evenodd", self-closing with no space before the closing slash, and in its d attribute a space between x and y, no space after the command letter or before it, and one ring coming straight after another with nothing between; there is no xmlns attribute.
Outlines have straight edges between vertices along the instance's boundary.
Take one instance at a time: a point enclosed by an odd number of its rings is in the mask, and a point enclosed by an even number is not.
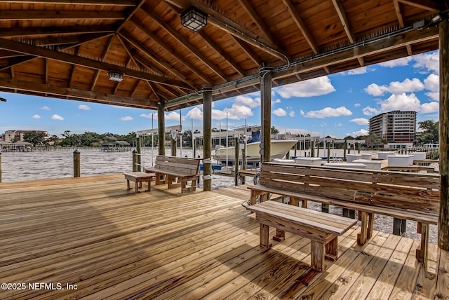
<svg viewBox="0 0 449 300"><path fill-rule="evenodd" d="M272 90L272 125L281 133L346 137L368 134L372 116L392 110L417 111L417 122L438 121L438 51L374 64ZM128 132L157 128L153 110L115 107L1 93L0 133L6 130ZM166 126L203 131L203 107L166 113ZM260 93L213 102L213 127L260 125Z"/></svg>

